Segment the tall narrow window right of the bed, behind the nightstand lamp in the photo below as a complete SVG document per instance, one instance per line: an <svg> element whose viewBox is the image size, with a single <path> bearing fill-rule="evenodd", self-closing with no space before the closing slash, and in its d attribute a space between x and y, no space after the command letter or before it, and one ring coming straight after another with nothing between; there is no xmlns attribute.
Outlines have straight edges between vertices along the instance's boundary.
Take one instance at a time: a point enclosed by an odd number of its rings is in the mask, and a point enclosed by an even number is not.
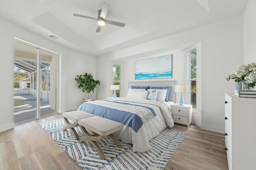
<svg viewBox="0 0 256 170"><path fill-rule="evenodd" d="M196 109L196 49L192 50L189 54L189 86L190 86L190 104Z"/></svg>

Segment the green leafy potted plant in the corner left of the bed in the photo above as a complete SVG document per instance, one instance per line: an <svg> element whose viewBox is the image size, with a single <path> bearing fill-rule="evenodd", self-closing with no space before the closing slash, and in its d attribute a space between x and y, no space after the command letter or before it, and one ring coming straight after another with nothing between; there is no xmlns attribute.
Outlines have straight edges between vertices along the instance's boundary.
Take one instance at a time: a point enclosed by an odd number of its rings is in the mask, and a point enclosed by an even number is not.
<svg viewBox="0 0 256 170"><path fill-rule="evenodd" d="M81 74L80 76L76 76L75 78L78 86L78 89L82 89L83 92L87 92L88 99L84 100L85 102L91 101L92 99L89 99L89 93L94 92L94 89L97 88L97 85L100 85L99 80L94 80L92 75L84 72L84 74Z"/></svg>

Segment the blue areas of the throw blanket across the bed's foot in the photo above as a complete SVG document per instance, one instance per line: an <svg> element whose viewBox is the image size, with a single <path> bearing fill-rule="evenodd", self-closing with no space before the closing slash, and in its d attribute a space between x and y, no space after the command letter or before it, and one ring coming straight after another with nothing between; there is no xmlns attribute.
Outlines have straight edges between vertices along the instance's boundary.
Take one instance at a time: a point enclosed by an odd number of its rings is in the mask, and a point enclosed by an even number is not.
<svg viewBox="0 0 256 170"><path fill-rule="evenodd" d="M110 102L110 101L108 101L108 102ZM120 103L120 102L117 102L117 103ZM120 103L120 104L128 104L128 103ZM132 104L128 104L128 105L132 105ZM140 105L135 105L135 106L145 107L145 106L140 106ZM146 108L150 109L150 111L153 111L152 114L154 116L156 116L156 113L154 112L154 110L152 108L150 108L150 107L146 107ZM79 106L78 110L86 111L86 112L92 113L94 115L98 115L98 116L105 117L110 120L120 122L124 125L132 127L132 129L135 132L138 132L140 127L143 125L143 121L141 120L141 118L138 115L136 115L134 113L130 113L128 111L112 109L109 107L91 104L88 102L81 104Z"/></svg>

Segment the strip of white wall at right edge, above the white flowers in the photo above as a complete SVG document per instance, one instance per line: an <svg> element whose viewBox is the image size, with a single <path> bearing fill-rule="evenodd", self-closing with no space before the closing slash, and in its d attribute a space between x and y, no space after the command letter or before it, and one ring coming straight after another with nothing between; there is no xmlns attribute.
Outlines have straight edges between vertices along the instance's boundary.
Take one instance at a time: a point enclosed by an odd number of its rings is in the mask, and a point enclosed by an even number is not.
<svg viewBox="0 0 256 170"><path fill-rule="evenodd" d="M244 64L256 63L256 0L244 10Z"/></svg>

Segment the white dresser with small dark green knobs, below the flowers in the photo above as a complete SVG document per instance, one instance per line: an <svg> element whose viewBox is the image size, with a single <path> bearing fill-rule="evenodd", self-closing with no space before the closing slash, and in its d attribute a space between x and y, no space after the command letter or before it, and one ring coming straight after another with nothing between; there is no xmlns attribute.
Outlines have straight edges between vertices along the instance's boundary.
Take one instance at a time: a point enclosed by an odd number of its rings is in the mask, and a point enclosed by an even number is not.
<svg viewBox="0 0 256 170"><path fill-rule="evenodd" d="M256 170L256 98L225 93L224 119L229 170Z"/></svg>

